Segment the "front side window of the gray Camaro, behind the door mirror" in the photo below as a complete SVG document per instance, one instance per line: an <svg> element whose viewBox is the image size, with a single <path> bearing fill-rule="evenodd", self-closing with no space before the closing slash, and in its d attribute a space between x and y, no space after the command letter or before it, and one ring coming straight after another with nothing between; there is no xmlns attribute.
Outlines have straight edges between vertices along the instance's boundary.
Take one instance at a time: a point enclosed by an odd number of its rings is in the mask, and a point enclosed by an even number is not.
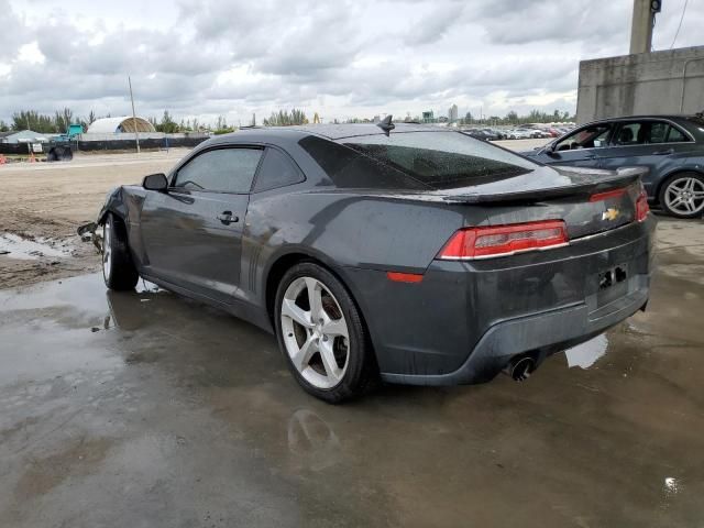
<svg viewBox="0 0 704 528"><path fill-rule="evenodd" d="M249 193L261 157L260 148L218 148L205 152L178 170L174 187Z"/></svg>

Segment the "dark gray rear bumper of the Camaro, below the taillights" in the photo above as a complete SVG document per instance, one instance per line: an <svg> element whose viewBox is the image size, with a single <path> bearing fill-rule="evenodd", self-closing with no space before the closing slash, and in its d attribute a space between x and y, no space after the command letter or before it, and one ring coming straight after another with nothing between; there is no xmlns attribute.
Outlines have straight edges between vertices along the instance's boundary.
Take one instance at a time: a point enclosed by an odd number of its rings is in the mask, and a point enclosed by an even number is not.
<svg viewBox="0 0 704 528"><path fill-rule="evenodd" d="M513 356L538 361L630 317L648 301L654 219L505 258L433 261L420 283L345 268L382 378L416 385L482 383ZM627 278L600 288L616 267Z"/></svg>

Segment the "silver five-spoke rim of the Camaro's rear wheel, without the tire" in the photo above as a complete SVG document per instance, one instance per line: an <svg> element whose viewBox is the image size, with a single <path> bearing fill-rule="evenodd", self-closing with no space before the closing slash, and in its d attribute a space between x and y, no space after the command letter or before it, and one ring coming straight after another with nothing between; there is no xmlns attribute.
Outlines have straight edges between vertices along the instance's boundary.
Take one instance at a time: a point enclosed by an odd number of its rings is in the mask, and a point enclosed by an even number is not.
<svg viewBox="0 0 704 528"><path fill-rule="evenodd" d="M280 322L298 373L317 388L337 386L350 360L350 332L332 293L316 278L296 278L282 299Z"/></svg>

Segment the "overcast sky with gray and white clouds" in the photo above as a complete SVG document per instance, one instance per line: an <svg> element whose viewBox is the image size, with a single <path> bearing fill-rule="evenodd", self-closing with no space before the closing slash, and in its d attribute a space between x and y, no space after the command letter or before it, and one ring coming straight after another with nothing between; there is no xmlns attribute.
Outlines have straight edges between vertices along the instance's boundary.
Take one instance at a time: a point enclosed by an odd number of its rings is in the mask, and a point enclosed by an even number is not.
<svg viewBox="0 0 704 528"><path fill-rule="evenodd" d="M684 0L664 0L670 48ZM432 109L573 112L579 61L628 53L631 0L0 0L0 119L20 109L237 124ZM690 0L676 46L704 44Z"/></svg>

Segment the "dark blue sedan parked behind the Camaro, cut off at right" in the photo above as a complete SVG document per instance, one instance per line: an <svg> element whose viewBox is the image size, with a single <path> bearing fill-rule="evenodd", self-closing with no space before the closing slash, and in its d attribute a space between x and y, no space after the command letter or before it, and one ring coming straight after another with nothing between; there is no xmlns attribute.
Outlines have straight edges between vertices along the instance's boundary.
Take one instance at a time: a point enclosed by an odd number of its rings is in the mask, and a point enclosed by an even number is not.
<svg viewBox="0 0 704 528"><path fill-rule="evenodd" d="M549 165L645 166L644 185L652 204L680 218L704 212L702 114L596 121L525 155Z"/></svg>

